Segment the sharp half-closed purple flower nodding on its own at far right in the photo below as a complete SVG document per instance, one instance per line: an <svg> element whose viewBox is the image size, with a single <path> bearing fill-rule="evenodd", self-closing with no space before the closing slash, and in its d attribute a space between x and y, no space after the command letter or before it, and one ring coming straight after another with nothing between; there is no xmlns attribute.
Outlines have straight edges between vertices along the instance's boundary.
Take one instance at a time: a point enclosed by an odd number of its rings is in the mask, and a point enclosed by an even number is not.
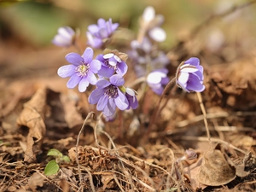
<svg viewBox="0 0 256 192"><path fill-rule="evenodd" d="M177 68L176 84L187 92L205 90L203 79L203 67L196 57L191 57L189 60L184 61Z"/></svg>

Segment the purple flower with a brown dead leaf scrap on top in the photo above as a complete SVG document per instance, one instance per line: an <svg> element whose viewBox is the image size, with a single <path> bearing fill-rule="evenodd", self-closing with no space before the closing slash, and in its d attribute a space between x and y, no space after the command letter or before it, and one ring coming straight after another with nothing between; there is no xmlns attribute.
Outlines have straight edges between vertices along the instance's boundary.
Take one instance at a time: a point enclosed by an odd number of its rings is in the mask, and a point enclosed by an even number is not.
<svg viewBox="0 0 256 192"><path fill-rule="evenodd" d="M113 73L124 76L128 70L125 61L128 56L118 50L105 49L104 55L97 55L96 60L102 62L102 68L98 72L99 76L110 78Z"/></svg>

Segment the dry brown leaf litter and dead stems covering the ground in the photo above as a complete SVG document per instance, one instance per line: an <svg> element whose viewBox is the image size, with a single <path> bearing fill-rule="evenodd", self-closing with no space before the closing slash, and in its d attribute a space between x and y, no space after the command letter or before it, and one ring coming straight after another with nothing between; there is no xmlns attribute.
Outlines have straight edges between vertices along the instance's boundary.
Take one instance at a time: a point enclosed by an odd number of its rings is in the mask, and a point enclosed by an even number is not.
<svg viewBox="0 0 256 192"><path fill-rule="evenodd" d="M172 60L192 55L189 47L200 41L193 35L192 42L172 49ZM174 90L172 97L166 96L146 140L142 136L158 102L150 91L131 131L129 113L119 114L115 122L102 121L99 114L91 118L93 108L83 103L86 96L54 89L49 79L33 77L34 83L26 84L3 77L16 89L0 84L5 90L0 98L0 190L254 191L255 58L241 54L236 60L227 55L216 59L203 48L198 46L193 55L204 55L209 60L206 66L218 63L206 69L207 89L202 94L206 117L195 96L177 95L180 90ZM236 55L235 48L230 52ZM45 176L44 167L53 160L47 157L51 148L68 155L71 162ZM188 148L195 152L194 158L188 158Z"/></svg>

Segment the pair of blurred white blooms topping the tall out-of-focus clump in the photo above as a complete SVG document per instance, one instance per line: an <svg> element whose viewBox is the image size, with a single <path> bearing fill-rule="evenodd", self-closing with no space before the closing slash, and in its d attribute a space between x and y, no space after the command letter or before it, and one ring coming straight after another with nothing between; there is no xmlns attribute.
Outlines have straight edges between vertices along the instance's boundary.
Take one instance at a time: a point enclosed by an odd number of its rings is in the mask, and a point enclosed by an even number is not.
<svg viewBox="0 0 256 192"><path fill-rule="evenodd" d="M160 28L164 20L163 15L155 15L154 8L151 6L148 6L143 12L141 20L143 29L148 32L148 36L154 41L163 42L166 40L166 32Z"/></svg>

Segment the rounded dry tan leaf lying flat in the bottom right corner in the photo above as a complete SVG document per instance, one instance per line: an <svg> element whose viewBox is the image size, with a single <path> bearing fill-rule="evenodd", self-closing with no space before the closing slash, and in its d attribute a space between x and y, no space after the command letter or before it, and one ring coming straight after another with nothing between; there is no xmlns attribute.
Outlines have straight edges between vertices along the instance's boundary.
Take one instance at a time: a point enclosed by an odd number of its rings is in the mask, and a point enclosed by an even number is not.
<svg viewBox="0 0 256 192"><path fill-rule="evenodd" d="M236 168L230 166L220 150L211 150L203 157L197 179L200 183L209 186L219 186L234 180Z"/></svg>

